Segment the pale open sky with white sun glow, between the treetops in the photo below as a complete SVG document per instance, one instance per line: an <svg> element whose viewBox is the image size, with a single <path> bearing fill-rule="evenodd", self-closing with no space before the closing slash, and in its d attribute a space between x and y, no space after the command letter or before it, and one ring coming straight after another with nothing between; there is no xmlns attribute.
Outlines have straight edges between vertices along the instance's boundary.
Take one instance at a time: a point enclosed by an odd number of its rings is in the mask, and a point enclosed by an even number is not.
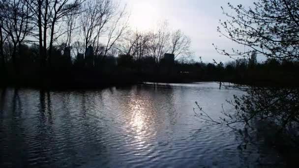
<svg viewBox="0 0 299 168"><path fill-rule="evenodd" d="M227 3L251 5L253 0L123 0L130 11L130 26L141 30L155 27L158 21L168 20L170 28L180 28L192 40L195 58L202 56L210 62L230 60L219 55L212 43L229 50L235 43L219 37L219 19L224 20L221 6L229 9Z"/></svg>

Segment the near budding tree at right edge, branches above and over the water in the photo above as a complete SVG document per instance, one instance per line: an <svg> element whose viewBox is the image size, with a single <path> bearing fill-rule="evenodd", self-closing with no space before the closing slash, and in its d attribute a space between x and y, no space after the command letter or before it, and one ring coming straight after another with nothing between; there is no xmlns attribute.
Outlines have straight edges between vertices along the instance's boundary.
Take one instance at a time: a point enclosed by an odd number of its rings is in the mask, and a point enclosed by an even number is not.
<svg viewBox="0 0 299 168"><path fill-rule="evenodd" d="M274 61L299 60L299 1L298 0L258 0L253 7L244 7L239 4L229 7L235 12L224 12L228 20L221 22L222 28L218 31L228 39L245 46L248 50L234 50L227 52L215 46L216 50L224 55L251 57L236 60L238 64L256 64L256 55L264 55ZM254 66L253 66L254 67ZM277 71L279 72L279 70ZM297 79L296 71L288 78ZM270 86L255 86L256 81L248 85L233 85L246 92L242 96L234 96L228 101L235 107L235 111L225 112L225 117L214 121L201 113L199 116L209 122L245 123L251 125L254 121L266 121L276 126L277 133L287 133L295 144L298 143L299 125L299 89L289 83L280 85L278 81L267 83ZM278 85L278 86L277 86ZM297 85L295 85L297 86ZM200 111L202 109L198 107ZM204 115L204 116L203 116ZM270 122L267 122L270 121ZM256 122L254 122L256 123ZM276 135L277 135L276 133ZM286 135L286 134L285 134Z"/></svg>

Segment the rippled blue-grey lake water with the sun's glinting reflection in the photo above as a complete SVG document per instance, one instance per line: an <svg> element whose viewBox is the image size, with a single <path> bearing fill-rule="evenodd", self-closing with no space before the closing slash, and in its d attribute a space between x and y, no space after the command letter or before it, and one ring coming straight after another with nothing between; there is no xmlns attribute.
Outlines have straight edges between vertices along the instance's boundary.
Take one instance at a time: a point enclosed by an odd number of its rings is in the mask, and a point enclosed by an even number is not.
<svg viewBox="0 0 299 168"><path fill-rule="evenodd" d="M275 151L262 144L244 150L238 133L194 116L198 101L218 118L234 94L242 92L216 83L44 93L8 88L0 95L0 167L277 166Z"/></svg>

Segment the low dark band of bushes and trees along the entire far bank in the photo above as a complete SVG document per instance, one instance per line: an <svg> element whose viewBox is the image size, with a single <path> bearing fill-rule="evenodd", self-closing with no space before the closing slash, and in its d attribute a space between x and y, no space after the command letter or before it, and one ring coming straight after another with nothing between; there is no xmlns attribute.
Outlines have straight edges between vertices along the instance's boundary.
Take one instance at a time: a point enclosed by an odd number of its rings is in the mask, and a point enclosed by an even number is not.
<svg viewBox="0 0 299 168"><path fill-rule="evenodd" d="M6 43L8 44L8 43ZM89 48L92 52L92 48ZM39 86L40 57L37 45L22 45L18 58L19 74L9 75L2 84L21 86ZM61 52L62 51L62 52ZM250 59L242 58L230 62L205 63L193 59L167 60L162 57L156 63L154 57L136 57L131 55L108 55L83 58L72 57L69 50L61 45L53 50L52 61L55 64L45 70L45 86L55 87L95 87L110 84L135 84L137 82L199 82L221 81L239 84L288 85L298 86L296 76L299 62L269 58L258 62L256 55ZM8 72L13 72L13 62L5 61ZM55 79L55 80L54 80ZM17 81L15 81L17 80ZM54 80L54 81L53 81Z"/></svg>

